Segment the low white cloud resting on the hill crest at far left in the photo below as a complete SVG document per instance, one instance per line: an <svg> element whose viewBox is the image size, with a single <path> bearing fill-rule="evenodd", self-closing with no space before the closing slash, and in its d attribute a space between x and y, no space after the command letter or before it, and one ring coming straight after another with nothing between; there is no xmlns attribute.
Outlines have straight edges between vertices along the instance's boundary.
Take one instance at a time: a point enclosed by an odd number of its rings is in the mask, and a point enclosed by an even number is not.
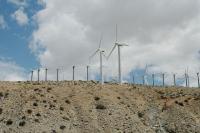
<svg viewBox="0 0 200 133"><path fill-rule="evenodd" d="M25 69L12 61L0 60L1 81L25 81L27 76Z"/></svg>

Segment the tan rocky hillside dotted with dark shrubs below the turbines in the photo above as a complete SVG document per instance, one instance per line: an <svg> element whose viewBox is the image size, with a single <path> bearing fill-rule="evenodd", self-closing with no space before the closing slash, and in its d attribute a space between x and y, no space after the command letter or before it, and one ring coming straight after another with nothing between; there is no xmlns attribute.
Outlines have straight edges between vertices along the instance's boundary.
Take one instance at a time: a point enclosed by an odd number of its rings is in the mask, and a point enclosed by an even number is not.
<svg viewBox="0 0 200 133"><path fill-rule="evenodd" d="M200 133L200 89L0 82L0 133Z"/></svg>

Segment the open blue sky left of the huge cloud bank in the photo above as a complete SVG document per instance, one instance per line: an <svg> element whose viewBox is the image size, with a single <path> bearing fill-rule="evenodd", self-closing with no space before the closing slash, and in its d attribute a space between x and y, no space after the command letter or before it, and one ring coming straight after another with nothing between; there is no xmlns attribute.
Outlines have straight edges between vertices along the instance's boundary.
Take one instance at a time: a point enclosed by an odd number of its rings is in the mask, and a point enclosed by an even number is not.
<svg viewBox="0 0 200 133"><path fill-rule="evenodd" d="M19 66L29 70L38 66L33 53L29 48L32 32L37 28L33 15L42 9L36 0L30 1L27 6L20 6L6 0L0 0L0 15L4 17L6 28L0 29L0 57L16 62ZM19 25L11 15L20 7L28 16L26 25Z"/></svg>

